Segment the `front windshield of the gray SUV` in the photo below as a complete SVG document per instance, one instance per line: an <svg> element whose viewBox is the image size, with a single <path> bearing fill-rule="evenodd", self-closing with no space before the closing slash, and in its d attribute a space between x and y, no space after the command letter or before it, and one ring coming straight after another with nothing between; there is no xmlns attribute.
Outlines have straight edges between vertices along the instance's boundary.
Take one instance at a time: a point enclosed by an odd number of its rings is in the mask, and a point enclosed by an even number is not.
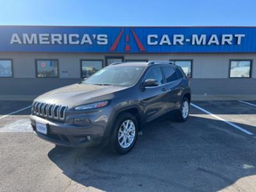
<svg viewBox="0 0 256 192"><path fill-rule="evenodd" d="M82 83L131 86L141 77L145 67L135 66L115 66L102 68Z"/></svg>

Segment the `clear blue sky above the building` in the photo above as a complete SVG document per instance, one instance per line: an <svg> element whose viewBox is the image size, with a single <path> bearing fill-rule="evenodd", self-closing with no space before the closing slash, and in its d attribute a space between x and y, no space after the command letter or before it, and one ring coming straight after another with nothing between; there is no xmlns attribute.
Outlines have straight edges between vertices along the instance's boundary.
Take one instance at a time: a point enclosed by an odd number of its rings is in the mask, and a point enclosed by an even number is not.
<svg viewBox="0 0 256 192"><path fill-rule="evenodd" d="M0 25L256 26L256 1L1 0Z"/></svg>

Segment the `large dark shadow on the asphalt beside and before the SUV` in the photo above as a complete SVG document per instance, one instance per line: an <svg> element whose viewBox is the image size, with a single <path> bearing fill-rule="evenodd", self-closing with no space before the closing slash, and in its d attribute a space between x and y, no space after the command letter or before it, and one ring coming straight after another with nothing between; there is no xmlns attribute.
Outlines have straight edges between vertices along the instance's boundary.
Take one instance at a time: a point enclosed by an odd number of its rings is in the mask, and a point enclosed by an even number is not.
<svg viewBox="0 0 256 192"><path fill-rule="evenodd" d="M55 147L48 156L70 179L104 191L246 191L237 181L256 174L255 148L253 136L219 120L163 116L124 156L100 147Z"/></svg>

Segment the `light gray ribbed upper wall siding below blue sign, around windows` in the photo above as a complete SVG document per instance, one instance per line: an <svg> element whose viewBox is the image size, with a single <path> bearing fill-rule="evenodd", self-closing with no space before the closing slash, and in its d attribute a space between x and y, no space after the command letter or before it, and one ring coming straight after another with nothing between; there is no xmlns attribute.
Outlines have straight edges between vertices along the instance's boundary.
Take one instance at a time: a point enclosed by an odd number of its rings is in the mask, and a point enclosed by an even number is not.
<svg viewBox="0 0 256 192"><path fill-rule="evenodd" d="M228 78L231 59L253 60L252 77L256 78L256 54L83 54L51 52L0 52L1 58L13 60L13 76L36 77L35 59L58 59L65 78L81 76L80 60L104 60L105 56L124 56L125 60L193 60L193 78ZM105 62L104 62L105 63Z"/></svg>

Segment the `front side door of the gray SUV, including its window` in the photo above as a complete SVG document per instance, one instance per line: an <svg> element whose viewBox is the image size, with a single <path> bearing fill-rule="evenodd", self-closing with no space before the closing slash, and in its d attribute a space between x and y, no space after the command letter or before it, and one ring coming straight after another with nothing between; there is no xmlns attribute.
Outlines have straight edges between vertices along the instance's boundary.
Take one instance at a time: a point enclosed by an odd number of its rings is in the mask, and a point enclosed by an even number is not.
<svg viewBox="0 0 256 192"><path fill-rule="evenodd" d="M141 106L143 106L145 120L148 122L166 112L168 93L166 92L163 72L160 67L150 68L141 84L147 79L156 79L158 83L158 86L141 88Z"/></svg>

